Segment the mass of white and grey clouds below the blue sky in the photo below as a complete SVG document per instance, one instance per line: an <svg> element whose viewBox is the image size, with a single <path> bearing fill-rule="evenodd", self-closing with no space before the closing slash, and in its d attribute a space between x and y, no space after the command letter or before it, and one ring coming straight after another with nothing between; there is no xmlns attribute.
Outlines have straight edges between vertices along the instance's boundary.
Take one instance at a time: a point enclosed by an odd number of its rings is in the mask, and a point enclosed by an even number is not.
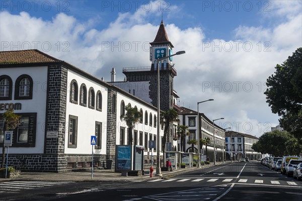
<svg viewBox="0 0 302 201"><path fill-rule="evenodd" d="M181 29L177 22L166 22L174 51L186 50L186 54L173 58L178 72L174 88L181 97L181 106L196 110L198 101L213 98L214 101L200 105L200 112L210 119L224 117L221 122L232 122L233 130L258 137L267 129L266 122L272 126L278 123L277 115L271 113L265 102L265 82L274 73L277 63L282 63L302 46L301 13L296 9L300 4L278 2L282 6L273 4L272 8L277 10L278 17L286 16L285 20L271 27L238 26L232 41L221 38L206 41L208 36L201 27ZM292 4L294 11L289 9ZM180 7L169 9L168 19L181 12ZM266 15L269 14L277 15L273 12ZM105 81L109 81L111 68L115 67L117 80L123 80L122 68L150 65L148 42L154 40L160 23L148 23L148 18L154 15L161 14L157 9L145 12L140 8L134 14L119 14L107 28L97 30L92 27L95 19L80 22L61 13L45 21L26 12L19 15L1 12L0 37L2 43L8 45L2 44L1 50L26 48L26 42L34 48L34 42L38 41L38 49L99 78L104 77ZM51 44L50 49L46 42ZM241 126L237 128L235 122L241 122ZM243 127L250 123L252 130Z"/></svg>

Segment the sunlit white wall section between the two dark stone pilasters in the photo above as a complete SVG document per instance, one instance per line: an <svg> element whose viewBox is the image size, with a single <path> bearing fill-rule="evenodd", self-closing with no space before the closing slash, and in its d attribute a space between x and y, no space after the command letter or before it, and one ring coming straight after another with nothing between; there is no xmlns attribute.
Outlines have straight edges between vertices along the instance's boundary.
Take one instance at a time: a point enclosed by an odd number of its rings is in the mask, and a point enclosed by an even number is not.
<svg viewBox="0 0 302 201"><path fill-rule="evenodd" d="M69 102L70 99L70 82L76 80L79 87L78 104ZM82 84L87 87L87 103L90 87L94 88L95 95L100 90L102 93L102 111L81 106L80 103L80 87ZM94 150L95 154L106 154L106 133L107 133L107 97L108 89L100 84L91 81L71 70L68 70L67 75L67 99L66 99L66 129L65 129L65 154L91 154L92 145L90 142L91 136L95 136L95 121L102 122L102 149ZM77 148L68 148L68 121L69 115L78 116L78 137Z"/></svg>

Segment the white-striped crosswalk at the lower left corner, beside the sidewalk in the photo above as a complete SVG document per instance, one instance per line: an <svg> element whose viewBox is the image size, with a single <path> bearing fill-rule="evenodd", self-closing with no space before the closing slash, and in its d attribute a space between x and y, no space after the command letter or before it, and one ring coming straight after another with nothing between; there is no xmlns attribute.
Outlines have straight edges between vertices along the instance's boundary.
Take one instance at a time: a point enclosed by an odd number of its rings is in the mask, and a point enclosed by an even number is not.
<svg viewBox="0 0 302 201"><path fill-rule="evenodd" d="M51 181L6 181L0 183L0 193L18 192L24 189L42 188L46 186L66 184L70 182L51 182Z"/></svg>

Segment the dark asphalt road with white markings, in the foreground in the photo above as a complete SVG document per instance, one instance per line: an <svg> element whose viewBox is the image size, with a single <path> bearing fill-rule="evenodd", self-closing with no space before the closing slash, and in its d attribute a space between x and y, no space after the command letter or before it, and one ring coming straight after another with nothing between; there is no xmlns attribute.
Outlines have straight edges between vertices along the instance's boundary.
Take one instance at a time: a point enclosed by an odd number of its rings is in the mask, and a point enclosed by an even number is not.
<svg viewBox="0 0 302 201"><path fill-rule="evenodd" d="M301 186L301 181L254 161L225 163L149 181L61 183L40 193L25 193L19 200L300 200Z"/></svg>

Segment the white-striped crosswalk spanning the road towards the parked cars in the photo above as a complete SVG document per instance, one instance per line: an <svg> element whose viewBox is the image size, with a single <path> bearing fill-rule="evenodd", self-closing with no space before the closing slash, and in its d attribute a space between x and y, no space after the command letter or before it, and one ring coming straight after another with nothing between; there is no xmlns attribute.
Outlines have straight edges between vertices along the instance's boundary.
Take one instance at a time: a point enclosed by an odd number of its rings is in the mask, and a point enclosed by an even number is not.
<svg viewBox="0 0 302 201"><path fill-rule="evenodd" d="M147 182L184 182L184 181L191 181L191 182L214 182L214 181L220 181L220 182L236 182L235 178L199 178L199 179L191 179L191 178L171 178L171 179L155 179L155 180L149 180ZM238 183L256 183L256 184L276 184L276 185L293 185L297 186L298 184L294 181L276 181L276 180L262 180L262 179L239 179L237 181Z"/></svg>

